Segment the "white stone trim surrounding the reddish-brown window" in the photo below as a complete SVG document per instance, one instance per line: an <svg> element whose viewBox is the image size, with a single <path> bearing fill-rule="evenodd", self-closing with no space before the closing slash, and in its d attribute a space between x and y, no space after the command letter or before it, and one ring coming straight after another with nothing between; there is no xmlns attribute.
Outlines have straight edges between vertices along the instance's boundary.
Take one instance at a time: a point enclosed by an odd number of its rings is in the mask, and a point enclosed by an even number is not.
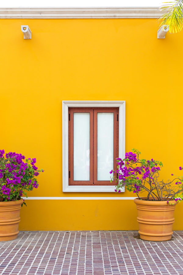
<svg viewBox="0 0 183 275"><path fill-rule="evenodd" d="M119 107L119 157L125 156L125 101L62 101L63 192L114 192L114 185L69 185L69 107ZM124 189L122 190L124 192Z"/></svg>

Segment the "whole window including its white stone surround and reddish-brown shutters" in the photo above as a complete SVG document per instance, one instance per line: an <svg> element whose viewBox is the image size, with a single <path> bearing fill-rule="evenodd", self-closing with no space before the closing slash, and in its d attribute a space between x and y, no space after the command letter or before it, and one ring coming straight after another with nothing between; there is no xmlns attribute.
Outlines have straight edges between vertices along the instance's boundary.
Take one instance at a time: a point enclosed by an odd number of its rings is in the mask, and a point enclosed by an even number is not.
<svg viewBox="0 0 183 275"><path fill-rule="evenodd" d="M114 192L109 171L125 154L125 101L63 101L62 123L63 192Z"/></svg>

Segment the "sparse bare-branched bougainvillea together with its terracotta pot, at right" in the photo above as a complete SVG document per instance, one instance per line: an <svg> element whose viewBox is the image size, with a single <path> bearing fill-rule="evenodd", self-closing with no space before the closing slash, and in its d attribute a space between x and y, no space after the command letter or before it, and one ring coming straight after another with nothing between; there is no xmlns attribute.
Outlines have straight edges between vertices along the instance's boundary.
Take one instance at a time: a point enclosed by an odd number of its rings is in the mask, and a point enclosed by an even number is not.
<svg viewBox="0 0 183 275"><path fill-rule="evenodd" d="M132 149L122 160L117 158L117 169L110 171L117 176L111 177L117 182L115 192L122 187L137 194L134 200L137 207L137 221L140 238L143 240L170 240L173 234L174 210L183 199L183 176L164 182L159 180L162 162L139 159L140 152ZM179 167L182 170L182 167ZM174 174L171 174L174 176ZM141 197L139 193L145 192Z"/></svg>

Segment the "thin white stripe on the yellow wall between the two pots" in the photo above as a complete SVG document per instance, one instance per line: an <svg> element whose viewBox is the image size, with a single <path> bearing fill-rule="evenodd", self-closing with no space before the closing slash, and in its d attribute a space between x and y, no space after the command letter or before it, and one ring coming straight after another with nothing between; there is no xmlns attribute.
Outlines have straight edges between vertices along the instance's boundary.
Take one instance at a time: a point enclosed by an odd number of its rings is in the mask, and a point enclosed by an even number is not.
<svg viewBox="0 0 183 275"><path fill-rule="evenodd" d="M136 197L22 197L24 200L134 200Z"/></svg>

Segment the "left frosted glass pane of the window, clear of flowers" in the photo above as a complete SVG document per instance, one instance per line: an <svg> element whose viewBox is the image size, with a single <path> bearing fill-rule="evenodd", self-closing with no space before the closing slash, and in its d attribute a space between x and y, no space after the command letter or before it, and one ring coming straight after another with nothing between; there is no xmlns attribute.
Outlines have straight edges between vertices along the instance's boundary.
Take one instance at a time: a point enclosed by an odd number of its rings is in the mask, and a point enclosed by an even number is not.
<svg viewBox="0 0 183 275"><path fill-rule="evenodd" d="M74 113L74 181L90 180L90 113Z"/></svg>

